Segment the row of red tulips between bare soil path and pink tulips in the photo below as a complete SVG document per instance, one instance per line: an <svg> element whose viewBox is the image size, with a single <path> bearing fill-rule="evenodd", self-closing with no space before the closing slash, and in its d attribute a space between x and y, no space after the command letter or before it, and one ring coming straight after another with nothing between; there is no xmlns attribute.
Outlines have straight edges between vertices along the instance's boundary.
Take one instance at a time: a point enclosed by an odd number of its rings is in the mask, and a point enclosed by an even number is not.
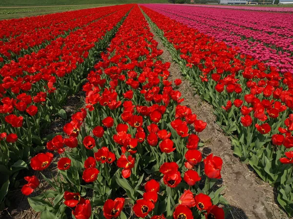
<svg viewBox="0 0 293 219"><path fill-rule="evenodd" d="M182 72L214 106L234 154L266 182L293 215L293 75L238 54L224 42L143 6Z"/></svg>

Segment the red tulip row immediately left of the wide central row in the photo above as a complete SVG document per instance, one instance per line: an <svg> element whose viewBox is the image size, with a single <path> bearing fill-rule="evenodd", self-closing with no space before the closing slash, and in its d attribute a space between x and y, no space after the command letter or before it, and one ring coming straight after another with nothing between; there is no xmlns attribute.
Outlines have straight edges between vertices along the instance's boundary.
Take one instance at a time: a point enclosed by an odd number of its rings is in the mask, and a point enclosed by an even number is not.
<svg viewBox="0 0 293 219"><path fill-rule="evenodd" d="M94 57L108 45L131 5L113 6L94 17L108 16L61 38L46 51L25 56L10 68L2 68L0 84L1 208L9 186L18 187L16 176L28 169L29 157L43 149L56 134L43 136L62 109L67 96L79 91ZM14 67L12 67L14 66ZM16 67L17 66L17 67ZM52 117L52 115L54 115Z"/></svg>

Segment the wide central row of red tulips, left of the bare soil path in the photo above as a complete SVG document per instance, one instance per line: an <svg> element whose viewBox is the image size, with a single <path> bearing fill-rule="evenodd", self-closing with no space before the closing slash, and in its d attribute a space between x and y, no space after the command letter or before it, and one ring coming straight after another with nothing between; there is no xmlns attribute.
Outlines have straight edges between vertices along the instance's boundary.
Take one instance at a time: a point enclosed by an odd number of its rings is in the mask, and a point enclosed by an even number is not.
<svg viewBox="0 0 293 219"><path fill-rule="evenodd" d="M207 124L180 105L157 45L136 5L88 74L86 107L64 126L66 137L47 143L59 154L57 177L43 176L53 190L28 199L42 219L68 210L76 219L224 219L224 187L211 189L222 160L197 150ZM30 165L55 168L53 157L39 153ZM23 194L40 188L35 176L25 179Z"/></svg>

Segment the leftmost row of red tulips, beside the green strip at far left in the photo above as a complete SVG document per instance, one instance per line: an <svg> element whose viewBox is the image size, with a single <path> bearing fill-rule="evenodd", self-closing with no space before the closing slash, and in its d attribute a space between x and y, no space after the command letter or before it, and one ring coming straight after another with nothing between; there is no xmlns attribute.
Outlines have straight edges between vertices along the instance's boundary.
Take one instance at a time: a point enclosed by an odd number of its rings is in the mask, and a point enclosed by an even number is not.
<svg viewBox="0 0 293 219"><path fill-rule="evenodd" d="M32 52L37 53L40 49L50 44L54 38L66 37L71 31L102 18L103 13L104 16L111 13L107 12L109 10L111 11L112 7L83 9L74 12L5 21L4 27L7 27L7 25L9 25L8 27L13 26L13 23L18 21L13 29L9 29L12 36L16 35L16 33L18 34L5 41L0 41L0 66L9 63L11 59L17 61L23 55L28 55ZM26 25L29 28L24 28ZM2 31L5 31L5 28Z"/></svg>

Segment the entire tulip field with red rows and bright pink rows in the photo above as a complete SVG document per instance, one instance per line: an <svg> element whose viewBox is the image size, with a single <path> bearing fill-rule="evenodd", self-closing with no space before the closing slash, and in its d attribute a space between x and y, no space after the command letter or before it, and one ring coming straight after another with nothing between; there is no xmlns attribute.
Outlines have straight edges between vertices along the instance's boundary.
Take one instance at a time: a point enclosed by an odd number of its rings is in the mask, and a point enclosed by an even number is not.
<svg viewBox="0 0 293 219"><path fill-rule="evenodd" d="M0 210L20 191L41 219L232 214L223 160L203 152L209 124L185 105L183 81L170 80L176 63L231 154L292 217L292 18L281 8L123 4L1 20ZM68 116L77 93L84 103Z"/></svg>

